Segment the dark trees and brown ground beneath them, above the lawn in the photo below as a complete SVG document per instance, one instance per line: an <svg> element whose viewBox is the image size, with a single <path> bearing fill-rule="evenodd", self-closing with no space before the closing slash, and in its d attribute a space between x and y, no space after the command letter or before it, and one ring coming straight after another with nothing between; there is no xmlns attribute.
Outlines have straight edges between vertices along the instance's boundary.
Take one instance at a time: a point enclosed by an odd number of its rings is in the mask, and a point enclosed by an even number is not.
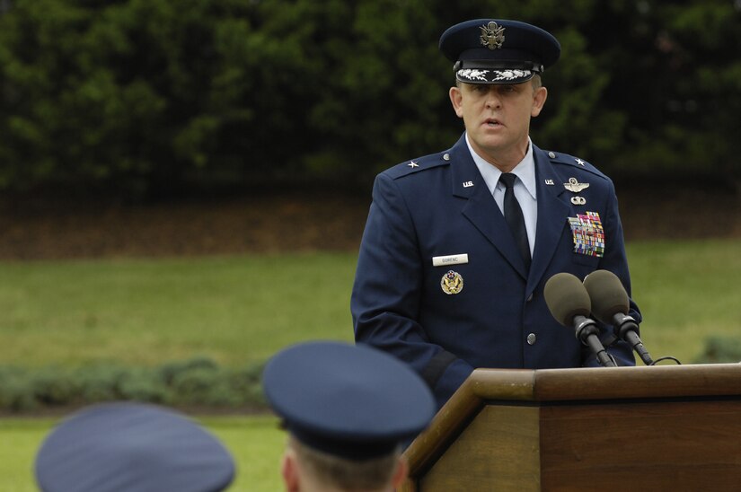
<svg viewBox="0 0 741 492"><path fill-rule="evenodd" d="M461 134L437 40L487 16L560 40L534 142L629 240L738 233L738 0L3 0L0 258L353 249L375 173Z"/></svg>

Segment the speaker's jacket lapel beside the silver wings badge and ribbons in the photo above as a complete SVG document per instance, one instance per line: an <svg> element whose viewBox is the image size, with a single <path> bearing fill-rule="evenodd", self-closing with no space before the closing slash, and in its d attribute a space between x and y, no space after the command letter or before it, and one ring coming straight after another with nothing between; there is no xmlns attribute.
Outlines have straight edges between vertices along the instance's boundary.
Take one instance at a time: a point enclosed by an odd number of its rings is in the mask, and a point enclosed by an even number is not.
<svg viewBox="0 0 741 492"><path fill-rule="evenodd" d="M532 294L543 273L551 263L561 234L565 231L569 206L560 198L565 191L560 176L543 151L534 146L535 181L538 194L538 227L535 233L535 250L527 281L527 293ZM552 182L552 185L546 184Z"/></svg>

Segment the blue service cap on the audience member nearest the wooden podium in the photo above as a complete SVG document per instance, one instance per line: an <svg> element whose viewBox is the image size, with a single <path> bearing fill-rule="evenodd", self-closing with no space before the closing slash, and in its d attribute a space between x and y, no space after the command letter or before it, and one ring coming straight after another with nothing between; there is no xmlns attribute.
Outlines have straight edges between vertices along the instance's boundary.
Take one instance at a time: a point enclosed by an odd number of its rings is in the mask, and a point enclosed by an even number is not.
<svg viewBox="0 0 741 492"><path fill-rule="evenodd" d="M273 356L262 385L288 432L353 461L393 452L435 415L427 384L408 365L365 345L298 344Z"/></svg>

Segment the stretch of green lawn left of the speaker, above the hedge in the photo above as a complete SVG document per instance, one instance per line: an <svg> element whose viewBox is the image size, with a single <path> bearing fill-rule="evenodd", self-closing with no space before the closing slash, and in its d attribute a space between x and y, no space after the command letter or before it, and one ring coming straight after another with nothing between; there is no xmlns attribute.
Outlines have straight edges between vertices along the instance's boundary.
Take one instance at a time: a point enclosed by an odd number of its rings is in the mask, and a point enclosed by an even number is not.
<svg viewBox="0 0 741 492"><path fill-rule="evenodd" d="M263 361L308 338L352 339L357 257L0 263L0 364Z"/></svg>

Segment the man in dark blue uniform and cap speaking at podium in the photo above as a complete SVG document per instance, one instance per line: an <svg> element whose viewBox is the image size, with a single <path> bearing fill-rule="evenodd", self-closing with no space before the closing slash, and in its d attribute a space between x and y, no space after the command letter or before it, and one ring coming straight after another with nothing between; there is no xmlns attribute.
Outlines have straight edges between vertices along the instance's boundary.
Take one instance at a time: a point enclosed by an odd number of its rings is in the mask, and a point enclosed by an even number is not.
<svg viewBox="0 0 741 492"><path fill-rule="evenodd" d="M438 407L477 367L598 365L551 315L553 275L611 270L631 292L613 182L530 139L558 40L480 19L445 31L440 50L454 63L449 94L465 133L376 177L351 299L357 343L410 364ZM641 320L632 301L630 314ZM603 328L617 365L635 365Z"/></svg>

